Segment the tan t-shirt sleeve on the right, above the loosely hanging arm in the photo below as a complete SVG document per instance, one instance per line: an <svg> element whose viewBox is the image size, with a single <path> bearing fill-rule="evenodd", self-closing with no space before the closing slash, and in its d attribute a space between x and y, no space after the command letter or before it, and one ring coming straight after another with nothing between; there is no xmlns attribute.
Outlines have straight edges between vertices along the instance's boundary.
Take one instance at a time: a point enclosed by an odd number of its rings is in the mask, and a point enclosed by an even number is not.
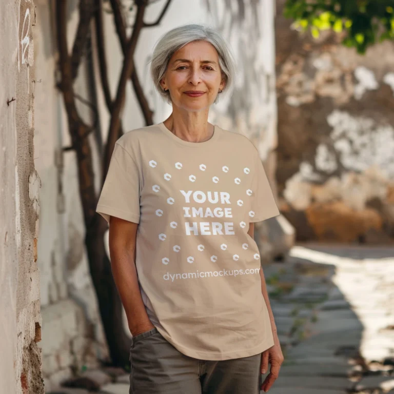
<svg viewBox="0 0 394 394"><path fill-rule="evenodd" d="M257 156L252 182L251 223L261 222L280 214L260 157Z"/></svg>

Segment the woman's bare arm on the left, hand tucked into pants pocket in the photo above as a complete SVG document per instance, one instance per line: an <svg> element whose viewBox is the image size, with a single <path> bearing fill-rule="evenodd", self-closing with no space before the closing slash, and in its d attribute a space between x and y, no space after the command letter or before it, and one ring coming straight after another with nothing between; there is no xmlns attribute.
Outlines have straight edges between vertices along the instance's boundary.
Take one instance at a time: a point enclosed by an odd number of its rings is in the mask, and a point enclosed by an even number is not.
<svg viewBox="0 0 394 394"><path fill-rule="evenodd" d="M111 216L109 222L109 253L112 275L125 308L133 337L154 326L149 320L135 267L135 242L138 224Z"/></svg>

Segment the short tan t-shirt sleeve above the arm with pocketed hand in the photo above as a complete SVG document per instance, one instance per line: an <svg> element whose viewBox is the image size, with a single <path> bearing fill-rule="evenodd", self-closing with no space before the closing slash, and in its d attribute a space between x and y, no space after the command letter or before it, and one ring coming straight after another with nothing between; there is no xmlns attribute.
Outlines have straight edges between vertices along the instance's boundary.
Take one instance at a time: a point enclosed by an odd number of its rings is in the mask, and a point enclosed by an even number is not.
<svg viewBox="0 0 394 394"><path fill-rule="evenodd" d="M140 175L134 159L115 144L96 212L109 223L110 216L140 223Z"/></svg>

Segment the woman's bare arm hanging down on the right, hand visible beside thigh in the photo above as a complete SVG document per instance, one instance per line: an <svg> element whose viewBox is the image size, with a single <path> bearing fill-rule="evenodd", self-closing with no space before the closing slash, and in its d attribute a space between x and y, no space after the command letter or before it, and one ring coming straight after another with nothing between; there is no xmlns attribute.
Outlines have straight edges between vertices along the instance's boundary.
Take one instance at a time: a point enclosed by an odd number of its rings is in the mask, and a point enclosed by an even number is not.
<svg viewBox="0 0 394 394"><path fill-rule="evenodd" d="M254 239L254 223L249 223L248 234L250 235L250 237L252 237ZM272 309L271 309L271 304L270 304L269 298L268 298L267 285L265 283L263 269L260 269L260 278L261 278L261 292L263 293L263 297L264 297L265 303L267 305L269 320L271 322L271 328L272 328L273 342L274 342L273 346L271 346L269 349L263 351L262 356L261 356L261 358L262 358L261 373L264 374L267 372L268 362L271 364L270 372L269 372L268 376L265 378L265 380L261 386L261 389L264 392L267 392L279 376L279 370L280 370L281 365L284 361L284 357L283 357L283 353L282 353L281 344L280 344L279 338L278 338L277 326L275 324L275 320L274 320Z"/></svg>

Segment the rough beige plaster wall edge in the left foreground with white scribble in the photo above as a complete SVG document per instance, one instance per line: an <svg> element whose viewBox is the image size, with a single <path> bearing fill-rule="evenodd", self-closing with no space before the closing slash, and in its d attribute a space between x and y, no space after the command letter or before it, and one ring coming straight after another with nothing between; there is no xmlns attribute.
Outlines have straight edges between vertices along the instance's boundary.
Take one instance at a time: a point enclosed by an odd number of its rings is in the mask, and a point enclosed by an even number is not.
<svg viewBox="0 0 394 394"><path fill-rule="evenodd" d="M38 190L34 169L34 4L0 5L0 387L7 394L44 392L40 284L36 264Z"/></svg>

